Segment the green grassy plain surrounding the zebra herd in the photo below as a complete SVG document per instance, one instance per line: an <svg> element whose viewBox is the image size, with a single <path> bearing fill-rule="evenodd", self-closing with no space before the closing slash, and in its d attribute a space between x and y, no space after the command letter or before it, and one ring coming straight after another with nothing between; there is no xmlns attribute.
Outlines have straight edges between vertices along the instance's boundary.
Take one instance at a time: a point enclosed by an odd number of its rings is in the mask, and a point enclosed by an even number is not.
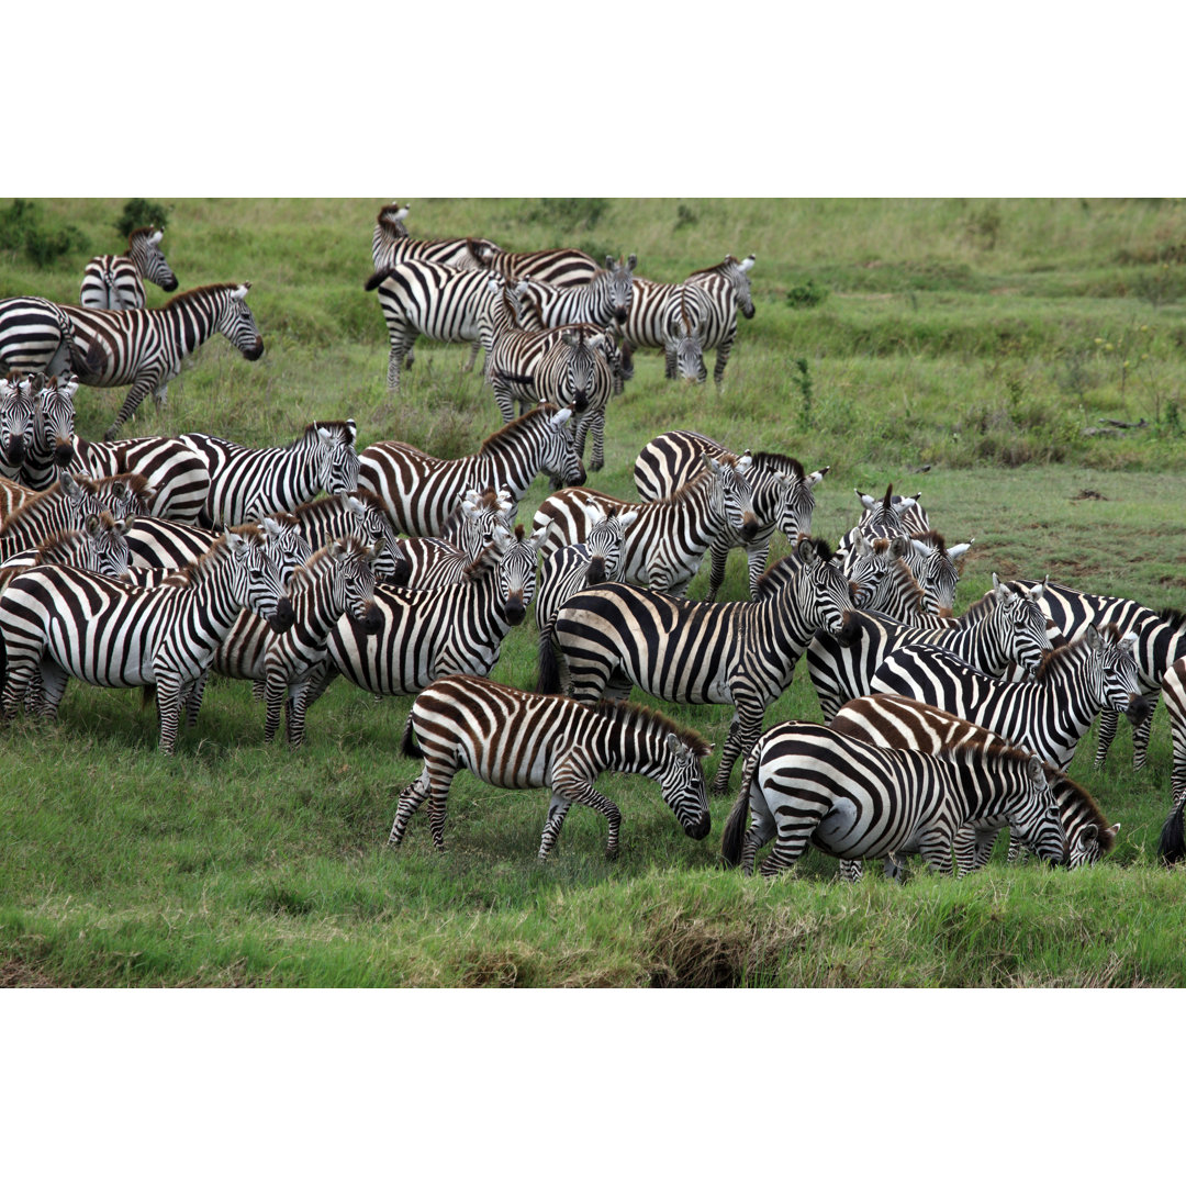
<svg viewBox="0 0 1186 1186"><path fill-rule="evenodd" d="M279 444L314 417L349 415L361 445L472 452L499 420L479 377L460 370L466 347L419 343L402 391L385 389L385 329L362 288L384 200L166 203L162 246L181 289L250 281L267 349L249 364L221 340L203 347L167 407L146 403L129 435ZM740 327L723 389L667 383L662 359L640 358L611 407L592 487L632 497L639 448L696 428L830 465L815 528L833 541L855 522L854 487L922 491L949 542L975 538L957 610L994 572L1186 608L1186 205L409 200L420 237L633 251L638 274L657 280L757 254L758 312ZM8 242L0 293L76 300L85 260L122 246L121 206L38 203L26 217L72 246L39 268ZM165 298L149 288L148 299ZM101 434L123 394L82 388L78 432ZM541 478L521 522L546 495ZM706 587L707 573L690 594ZM745 594L734 555L723 597ZM535 646L529 616L495 678L533 686ZM173 759L157 753L155 714L139 693L72 686L56 727L18 720L0 739L0 983L1186 983L1184 881L1156 861L1169 806L1163 708L1141 774L1127 725L1103 772L1091 769L1093 734L1071 767L1121 823L1099 867L1013 868L1002 844L964 881L919 869L904 886L872 875L847 886L816 853L774 885L722 871L732 796L714 802L713 833L694 843L653 784L620 776L599 784L624 816L612 865L604 822L578 810L541 867L546 792L465 774L449 796L446 852L433 849L423 814L389 852L398 791L419 769L397 754L409 704L339 681L291 753L263 745L247 686L212 681ZM725 708L667 710L723 740ZM818 719L802 670L766 721L790 716Z"/></svg>

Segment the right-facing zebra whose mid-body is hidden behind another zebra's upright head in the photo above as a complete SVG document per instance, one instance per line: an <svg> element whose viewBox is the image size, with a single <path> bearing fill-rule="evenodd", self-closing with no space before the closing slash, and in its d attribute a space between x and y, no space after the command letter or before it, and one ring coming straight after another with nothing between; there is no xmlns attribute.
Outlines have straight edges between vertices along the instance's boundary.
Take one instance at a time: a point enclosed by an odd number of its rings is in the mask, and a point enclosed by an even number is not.
<svg viewBox="0 0 1186 1186"><path fill-rule="evenodd" d="M758 528L751 505L748 455L704 455L704 468L670 498L627 503L593 490L569 487L550 495L535 512L533 527L549 527L543 557L569 543L581 543L589 528L611 509L636 518L623 542L621 580L657 593L681 597L704 553L726 524L742 538Z"/></svg>

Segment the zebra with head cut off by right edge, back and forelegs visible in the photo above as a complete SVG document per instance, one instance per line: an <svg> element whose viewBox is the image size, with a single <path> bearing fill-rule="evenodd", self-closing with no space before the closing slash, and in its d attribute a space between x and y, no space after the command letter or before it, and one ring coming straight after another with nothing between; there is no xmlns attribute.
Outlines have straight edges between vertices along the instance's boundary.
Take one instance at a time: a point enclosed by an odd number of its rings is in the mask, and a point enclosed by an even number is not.
<svg viewBox="0 0 1186 1186"><path fill-rule="evenodd" d="M1013 581L1013 587L1040 588L1042 608L1057 631L1067 642L1079 638L1088 625L1099 629L1114 625L1123 635L1136 635L1133 655L1141 691L1154 702L1171 668L1186 656L1186 614L1178 610L1154 611L1128 598L1101 597L1083 593L1066 585L1056 585L1047 578L1039 581ZM1171 720L1173 715L1171 714ZM1096 746L1096 767L1103 766L1108 750L1116 737L1116 713L1105 709L1099 714L1099 739ZM1150 713L1133 726L1133 769L1144 766L1153 726Z"/></svg>

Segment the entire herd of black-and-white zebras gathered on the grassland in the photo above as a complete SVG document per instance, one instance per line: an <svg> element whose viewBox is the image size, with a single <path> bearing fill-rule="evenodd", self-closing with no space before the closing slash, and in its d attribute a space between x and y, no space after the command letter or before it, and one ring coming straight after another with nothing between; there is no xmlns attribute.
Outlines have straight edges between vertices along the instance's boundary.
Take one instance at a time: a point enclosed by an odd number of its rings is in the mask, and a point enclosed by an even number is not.
<svg viewBox="0 0 1186 1186"><path fill-rule="evenodd" d="M423 767L400 795L398 844L427 799L445 836L460 769L505 788L549 788L540 856L573 803L620 811L602 771L659 784L688 836L710 830L709 796L740 790L727 865L789 868L810 844L855 880L881 859L900 876L920 854L938 872L980 868L999 831L1054 865L1114 846L1091 796L1065 771L1101 716L1102 765L1124 713L1144 763L1166 694L1174 810L1162 855L1186 855L1186 619L1052 584L1000 581L952 613L957 561L922 506L857 491L836 548L811 534L828 467L733 449L691 429L644 444L639 499L591 490L605 414L638 350L667 378L723 382L738 314L754 315L754 256L661 283L635 255L506 251L485 238L414 240L408 208L384 206L374 272L398 390L417 337L466 343L502 426L470 455L406 441L358 447L353 419L314 421L292 442L248 447L203 432L115 440L145 395L162 402L183 362L215 333L248 361L263 340L249 286L205 285L148 308L144 281L177 279L154 228L126 256L88 264L78 306L0 300L0 714L55 719L68 681L151 689L160 750L198 723L211 672L251 681L264 740L342 676L377 696L414 695L401 750ZM79 383L130 387L104 441L75 433ZM553 492L530 529L517 509L536 478ZM788 555L770 563L782 534ZM716 602L731 549L746 553L750 600ZM709 556L708 595L686 598ZM489 678L535 604L534 690ZM764 729L801 656L824 723ZM715 779L712 746L633 688L670 704L733 708Z"/></svg>

